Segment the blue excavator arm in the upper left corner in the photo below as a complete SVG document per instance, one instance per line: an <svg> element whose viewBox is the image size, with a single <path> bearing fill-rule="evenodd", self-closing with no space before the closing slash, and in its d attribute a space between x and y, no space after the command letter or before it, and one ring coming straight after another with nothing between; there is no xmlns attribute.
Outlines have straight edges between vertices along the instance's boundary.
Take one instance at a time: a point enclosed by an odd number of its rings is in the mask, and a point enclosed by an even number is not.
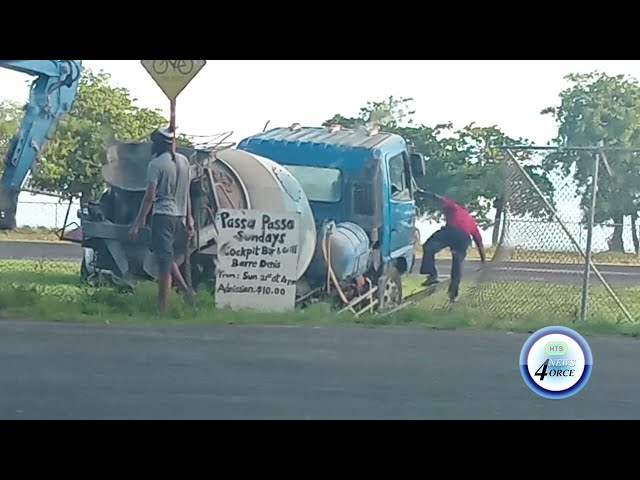
<svg viewBox="0 0 640 480"><path fill-rule="evenodd" d="M0 67L36 77L18 134L9 146L0 179L0 230L16 227L18 195L29 171L78 91L82 60L0 60Z"/></svg>

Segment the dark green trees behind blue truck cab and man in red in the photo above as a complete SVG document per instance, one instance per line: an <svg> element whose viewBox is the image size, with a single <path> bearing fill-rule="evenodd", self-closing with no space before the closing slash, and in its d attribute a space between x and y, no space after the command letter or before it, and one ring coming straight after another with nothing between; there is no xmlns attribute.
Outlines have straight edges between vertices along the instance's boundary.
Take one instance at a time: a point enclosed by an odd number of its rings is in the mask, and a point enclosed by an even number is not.
<svg viewBox="0 0 640 480"><path fill-rule="evenodd" d="M410 107L411 98L395 98L382 102L368 102L357 117L334 115L323 123L330 126L339 123L347 128L378 123L384 131L401 135L413 148L427 159L427 175L418 180L420 187L453 198L465 204L486 228L493 226L493 244L497 244L502 222L506 194L517 194L518 201L512 203L515 215L531 215L540 218L548 214L542 199L522 179L518 184L507 185L503 166L505 152L496 147L527 143L524 139L512 139L499 128L468 125L454 131L450 123L427 127L416 125ZM547 172L532 163L531 155L525 154L520 161L528 162L525 169L538 187L553 201L553 184ZM420 212L428 218L439 219L441 212L422 197L417 198ZM495 208L490 219L489 211Z"/></svg>

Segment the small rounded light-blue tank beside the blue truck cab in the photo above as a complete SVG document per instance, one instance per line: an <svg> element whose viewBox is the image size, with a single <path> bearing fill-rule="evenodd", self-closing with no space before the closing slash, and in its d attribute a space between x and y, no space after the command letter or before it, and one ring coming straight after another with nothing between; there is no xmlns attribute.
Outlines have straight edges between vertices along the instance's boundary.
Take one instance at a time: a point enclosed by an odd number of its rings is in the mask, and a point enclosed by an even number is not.
<svg viewBox="0 0 640 480"><path fill-rule="evenodd" d="M320 281L327 277L327 263L322 252L322 242L330 222L318 233L316 253L309 267L309 276ZM362 227L352 222L334 224L330 236L331 268L339 281L353 280L369 270L371 249L369 237Z"/></svg>

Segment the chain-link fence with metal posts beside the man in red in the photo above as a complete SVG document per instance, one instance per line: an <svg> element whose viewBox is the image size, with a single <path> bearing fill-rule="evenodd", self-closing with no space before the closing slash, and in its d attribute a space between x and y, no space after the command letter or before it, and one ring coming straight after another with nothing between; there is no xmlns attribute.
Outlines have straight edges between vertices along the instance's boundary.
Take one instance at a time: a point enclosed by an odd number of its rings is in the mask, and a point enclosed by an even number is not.
<svg viewBox="0 0 640 480"><path fill-rule="evenodd" d="M640 262L634 248L610 251L614 236L627 245L637 242L631 226L596 224L591 212L580 207L570 179L556 181L553 193L545 192L527 165L507 152L498 245L491 261L468 282L464 306L514 322L635 322L640 318ZM589 190L585 195L597 206L597 195L594 200Z"/></svg>

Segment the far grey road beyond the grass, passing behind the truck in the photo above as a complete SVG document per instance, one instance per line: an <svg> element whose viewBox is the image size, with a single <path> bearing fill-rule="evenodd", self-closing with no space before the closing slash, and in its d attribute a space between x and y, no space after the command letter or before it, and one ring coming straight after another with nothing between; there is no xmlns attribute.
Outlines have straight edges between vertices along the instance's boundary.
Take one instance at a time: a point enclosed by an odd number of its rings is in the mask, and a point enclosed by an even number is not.
<svg viewBox="0 0 640 480"><path fill-rule="evenodd" d="M2 259L51 259L51 260L77 260L82 258L82 249L76 244L70 243L40 243L40 242L0 242L0 258ZM436 262L439 272L443 278L447 278L450 271L451 262L448 260L438 260ZM582 284L582 265L561 264L561 263L524 263L509 262L501 266L488 264L488 272L484 280L511 280L511 281L540 281L563 284ZM479 263L467 261L464 265L465 280L475 280L479 278ZM598 267L602 276L612 287L633 287L640 286L640 267L628 265L602 265ZM414 272L418 271L418 266ZM598 282L595 274L592 274L593 281Z"/></svg>

